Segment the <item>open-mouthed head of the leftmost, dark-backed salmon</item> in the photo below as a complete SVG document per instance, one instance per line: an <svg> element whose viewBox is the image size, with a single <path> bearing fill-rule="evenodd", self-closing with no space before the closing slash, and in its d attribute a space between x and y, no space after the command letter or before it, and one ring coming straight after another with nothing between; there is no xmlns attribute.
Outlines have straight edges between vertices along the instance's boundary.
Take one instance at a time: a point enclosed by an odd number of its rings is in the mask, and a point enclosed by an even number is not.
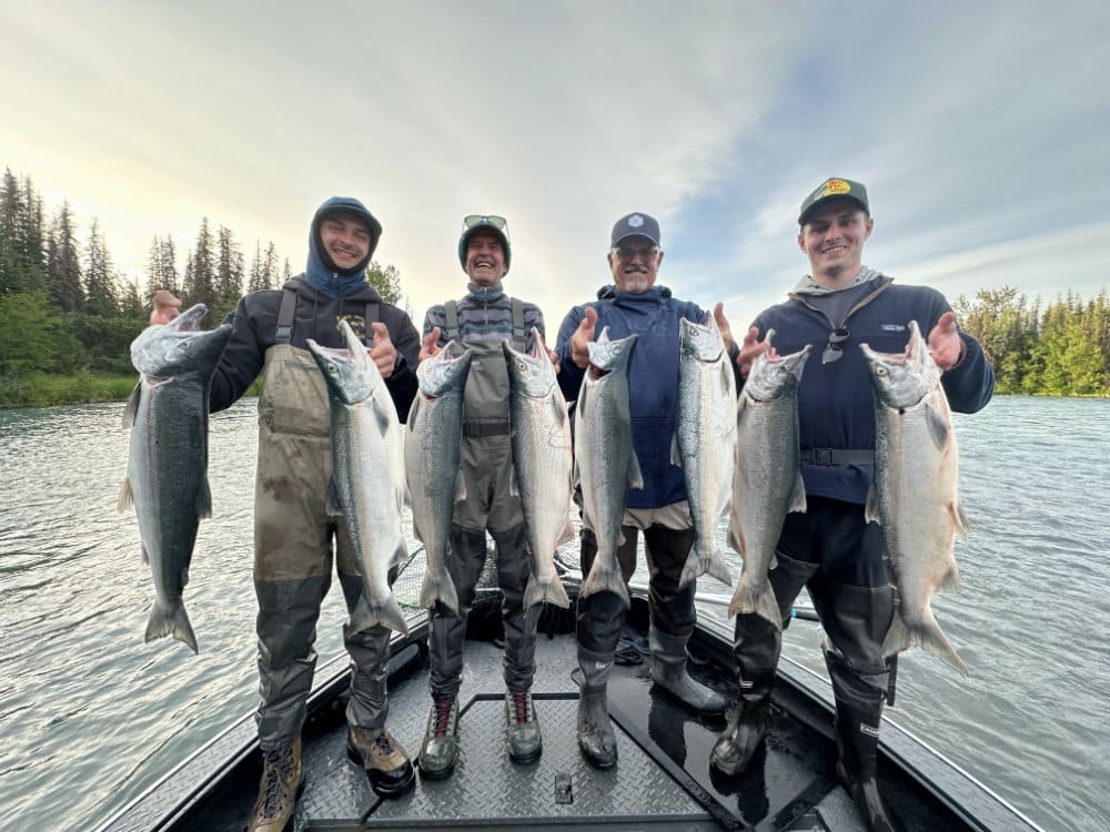
<svg viewBox="0 0 1110 832"><path fill-rule="evenodd" d="M168 324L148 326L131 343L131 363L140 373L169 378L190 371L211 374L231 337L231 324L202 331L208 307L199 303Z"/></svg>

